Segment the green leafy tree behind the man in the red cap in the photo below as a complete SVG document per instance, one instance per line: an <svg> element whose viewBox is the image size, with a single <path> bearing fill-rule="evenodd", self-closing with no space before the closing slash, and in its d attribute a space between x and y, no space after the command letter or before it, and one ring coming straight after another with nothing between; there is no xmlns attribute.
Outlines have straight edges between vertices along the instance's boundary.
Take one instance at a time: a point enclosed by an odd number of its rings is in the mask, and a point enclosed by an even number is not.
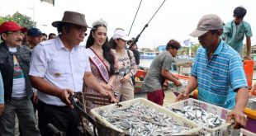
<svg viewBox="0 0 256 136"><path fill-rule="evenodd" d="M31 28L36 26L36 21L31 21L31 17L22 15L19 12L14 13L12 16L0 16L0 23L2 24L3 21L15 21L20 26L24 26L26 28Z"/></svg>

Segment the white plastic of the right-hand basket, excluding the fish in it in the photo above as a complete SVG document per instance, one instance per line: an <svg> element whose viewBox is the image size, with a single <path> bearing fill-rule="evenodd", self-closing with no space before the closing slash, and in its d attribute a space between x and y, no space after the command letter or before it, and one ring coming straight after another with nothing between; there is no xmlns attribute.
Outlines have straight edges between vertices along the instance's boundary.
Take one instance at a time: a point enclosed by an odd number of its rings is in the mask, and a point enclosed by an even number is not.
<svg viewBox="0 0 256 136"><path fill-rule="evenodd" d="M228 113L231 111L231 110L222 108L220 106L214 106L214 105L211 105L204 101L198 101L198 100L192 99L192 98L175 102L166 107L168 109L174 108L174 109L182 110L184 106L195 106L197 108L201 108L203 110L206 110L206 112L208 112L208 113L218 115L223 120L226 120ZM178 116L180 116L180 115L178 115ZM183 117L183 118L185 118L185 117ZM211 136L230 135L230 131L229 131L230 123L221 124L220 126L214 128L214 129L207 128L206 126L203 126L203 125L201 125L201 128L202 129L199 132L199 135L209 135L209 134L211 134Z"/></svg>

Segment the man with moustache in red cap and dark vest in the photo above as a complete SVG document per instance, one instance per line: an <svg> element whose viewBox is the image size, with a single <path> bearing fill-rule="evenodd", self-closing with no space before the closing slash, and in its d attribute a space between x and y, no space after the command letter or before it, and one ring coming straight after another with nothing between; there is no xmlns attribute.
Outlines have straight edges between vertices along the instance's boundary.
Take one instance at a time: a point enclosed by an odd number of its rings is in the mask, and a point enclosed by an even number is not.
<svg viewBox="0 0 256 136"><path fill-rule="evenodd" d="M31 103L32 89L28 76L31 51L21 45L26 28L14 21L0 26L0 70L4 85L5 108L0 118L0 134L14 135L17 115L24 135L40 135Z"/></svg>

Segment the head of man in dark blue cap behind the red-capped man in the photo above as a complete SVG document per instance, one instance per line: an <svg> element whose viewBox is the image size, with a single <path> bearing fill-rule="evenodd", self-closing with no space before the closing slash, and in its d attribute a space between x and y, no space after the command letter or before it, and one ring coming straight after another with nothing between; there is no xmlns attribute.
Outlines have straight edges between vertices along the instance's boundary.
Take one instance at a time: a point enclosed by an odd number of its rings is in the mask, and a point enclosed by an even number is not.
<svg viewBox="0 0 256 136"><path fill-rule="evenodd" d="M34 49L42 41L42 32L38 28L32 27L27 30L26 35L30 49Z"/></svg>

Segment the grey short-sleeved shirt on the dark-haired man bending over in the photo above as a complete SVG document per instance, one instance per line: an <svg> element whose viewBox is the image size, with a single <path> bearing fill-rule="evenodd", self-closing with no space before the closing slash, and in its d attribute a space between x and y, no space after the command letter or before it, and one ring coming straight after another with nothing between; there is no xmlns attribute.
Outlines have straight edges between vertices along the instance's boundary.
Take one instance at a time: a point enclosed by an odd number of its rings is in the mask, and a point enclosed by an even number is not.
<svg viewBox="0 0 256 136"><path fill-rule="evenodd" d="M162 68L169 71L171 70L172 63L173 56L168 51L159 54L149 67L149 72L143 82L143 90L150 92L162 90L161 82L164 80L161 75Z"/></svg>

